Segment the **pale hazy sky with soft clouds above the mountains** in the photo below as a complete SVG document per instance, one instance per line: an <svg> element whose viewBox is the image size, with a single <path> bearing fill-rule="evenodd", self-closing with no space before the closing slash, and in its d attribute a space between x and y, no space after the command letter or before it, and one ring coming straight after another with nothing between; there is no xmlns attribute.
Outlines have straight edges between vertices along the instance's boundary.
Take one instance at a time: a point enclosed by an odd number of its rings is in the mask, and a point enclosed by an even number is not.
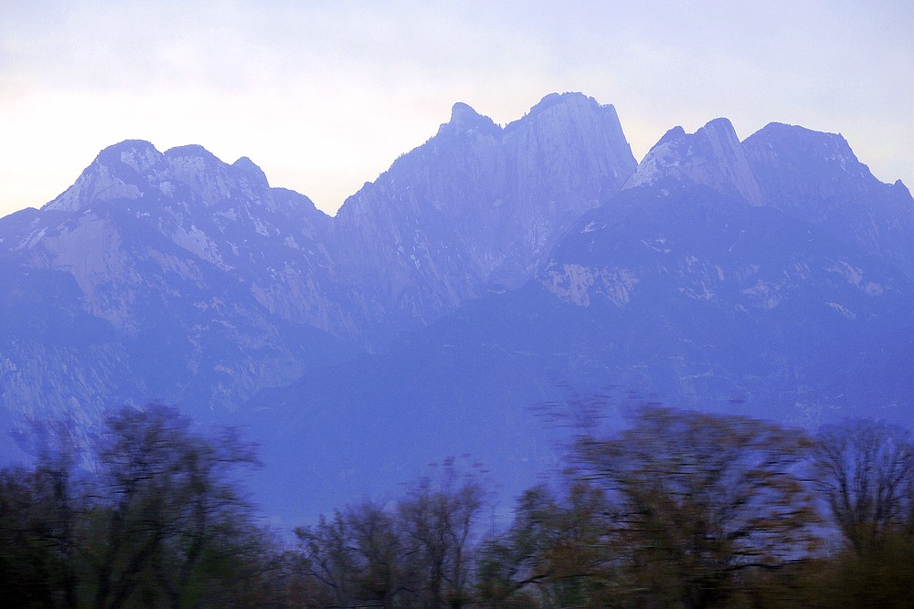
<svg viewBox="0 0 914 609"><path fill-rule="evenodd" d="M334 213L455 101L505 124L567 90L639 160L676 124L781 121L914 188L914 0L0 0L0 215L126 139L249 156Z"/></svg>

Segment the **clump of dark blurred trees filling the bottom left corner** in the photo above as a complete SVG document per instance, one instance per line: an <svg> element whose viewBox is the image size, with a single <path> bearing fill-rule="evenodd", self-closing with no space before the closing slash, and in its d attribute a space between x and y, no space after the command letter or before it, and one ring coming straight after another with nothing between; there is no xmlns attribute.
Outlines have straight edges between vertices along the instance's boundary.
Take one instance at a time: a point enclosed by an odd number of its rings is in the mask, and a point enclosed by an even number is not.
<svg viewBox="0 0 914 609"><path fill-rule="evenodd" d="M7 604L188 606L238 579L255 527L234 475L255 458L234 432L150 405L109 413L86 451L66 421L23 437L35 467L0 475Z"/></svg>

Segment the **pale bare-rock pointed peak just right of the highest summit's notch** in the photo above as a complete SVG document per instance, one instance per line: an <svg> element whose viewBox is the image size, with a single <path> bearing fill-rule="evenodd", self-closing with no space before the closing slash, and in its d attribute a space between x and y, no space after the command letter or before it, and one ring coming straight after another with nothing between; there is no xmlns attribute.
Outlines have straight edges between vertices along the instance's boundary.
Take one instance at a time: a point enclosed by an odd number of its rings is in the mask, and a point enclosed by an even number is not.
<svg viewBox="0 0 914 609"><path fill-rule="evenodd" d="M759 184L727 119L709 121L691 134L682 127L667 131L624 187L656 184L664 179L703 184L722 194L738 194L751 205L762 205Z"/></svg>

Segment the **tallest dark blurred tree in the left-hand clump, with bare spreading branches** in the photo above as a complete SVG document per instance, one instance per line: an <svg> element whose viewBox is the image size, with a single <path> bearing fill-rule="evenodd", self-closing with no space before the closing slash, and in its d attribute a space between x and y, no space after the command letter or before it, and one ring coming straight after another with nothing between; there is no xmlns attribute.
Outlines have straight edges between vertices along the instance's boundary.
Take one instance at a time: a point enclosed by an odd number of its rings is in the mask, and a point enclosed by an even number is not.
<svg viewBox="0 0 914 609"><path fill-rule="evenodd" d="M231 475L254 463L236 434L207 439L175 408L108 415L98 439L99 493L85 529L92 604L150 604L162 596L179 607L206 593L250 526Z"/></svg>

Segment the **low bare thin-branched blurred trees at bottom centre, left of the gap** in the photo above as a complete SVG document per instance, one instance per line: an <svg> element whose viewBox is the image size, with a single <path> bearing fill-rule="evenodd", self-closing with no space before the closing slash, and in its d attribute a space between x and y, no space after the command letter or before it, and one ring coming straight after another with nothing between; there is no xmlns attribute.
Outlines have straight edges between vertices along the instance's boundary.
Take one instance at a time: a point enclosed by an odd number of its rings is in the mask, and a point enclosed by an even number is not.
<svg viewBox="0 0 914 609"><path fill-rule="evenodd" d="M399 503L370 501L295 530L309 606L461 607L472 599L473 535L484 493L451 460ZM394 507L396 506L396 507Z"/></svg>

